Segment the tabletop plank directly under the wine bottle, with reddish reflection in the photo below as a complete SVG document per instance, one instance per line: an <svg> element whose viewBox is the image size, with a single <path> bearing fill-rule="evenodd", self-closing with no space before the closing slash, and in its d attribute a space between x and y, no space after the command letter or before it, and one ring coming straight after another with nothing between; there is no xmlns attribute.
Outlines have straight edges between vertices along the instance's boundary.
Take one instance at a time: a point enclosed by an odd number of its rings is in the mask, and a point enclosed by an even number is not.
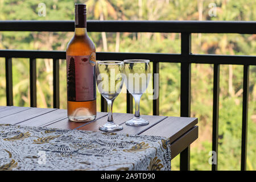
<svg viewBox="0 0 256 182"><path fill-rule="evenodd" d="M104 117L107 114L108 113L97 112L96 120L91 122L72 122L72 121L69 121L68 118L65 118L57 122L51 122L48 125L44 125L44 127L51 127L51 128L57 128L57 129L77 129L77 127L87 125L88 123L94 123L95 121L97 121L97 119Z"/></svg>

